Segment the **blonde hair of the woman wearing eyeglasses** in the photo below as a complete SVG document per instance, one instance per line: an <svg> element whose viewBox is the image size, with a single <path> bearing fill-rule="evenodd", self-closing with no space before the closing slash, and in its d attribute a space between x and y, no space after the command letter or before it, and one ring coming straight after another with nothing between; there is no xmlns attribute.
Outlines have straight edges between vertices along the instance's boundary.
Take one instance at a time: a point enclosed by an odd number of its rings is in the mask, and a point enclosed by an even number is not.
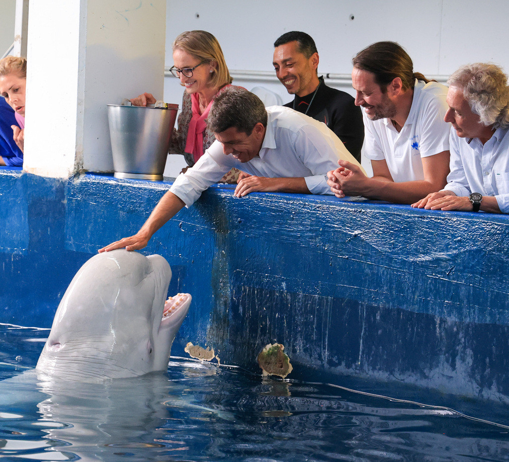
<svg viewBox="0 0 509 462"><path fill-rule="evenodd" d="M179 48L200 61L211 63L215 61L217 68L211 75L209 86L221 88L231 84L230 75L221 46L217 39L206 31L187 31L180 34L173 42L173 50Z"/></svg>

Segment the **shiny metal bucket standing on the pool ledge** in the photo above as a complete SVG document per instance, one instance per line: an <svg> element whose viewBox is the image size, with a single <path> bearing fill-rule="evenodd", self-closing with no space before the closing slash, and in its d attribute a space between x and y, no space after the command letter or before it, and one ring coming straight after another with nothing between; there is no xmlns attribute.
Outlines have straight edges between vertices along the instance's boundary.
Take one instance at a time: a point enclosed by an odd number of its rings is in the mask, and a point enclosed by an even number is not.
<svg viewBox="0 0 509 462"><path fill-rule="evenodd" d="M108 104L116 178L162 180L178 104L141 107Z"/></svg>

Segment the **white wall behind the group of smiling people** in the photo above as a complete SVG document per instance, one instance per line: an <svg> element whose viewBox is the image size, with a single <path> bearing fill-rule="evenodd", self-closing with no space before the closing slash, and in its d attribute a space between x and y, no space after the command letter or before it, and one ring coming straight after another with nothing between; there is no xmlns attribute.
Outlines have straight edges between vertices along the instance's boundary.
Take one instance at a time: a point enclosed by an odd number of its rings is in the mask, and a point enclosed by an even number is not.
<svg viewBox="0 0 509 462"><path fill-rule="evenodd" d="M399 42L412 57L415 71L442 81L460 65L477 61L494 62L509 71L507 0L168 0L166 14L167 67L173 65L175 37L203 29L219 40L234 84L248 90L263 85L284 102L292 97L273 74L272 52L275 39L292 30L314 38L319 73L343 74L342 80L328 85L348 92L352 58L380 40ZM239 70L266 71L273 78L238 78ZM165 101L180 104L182 93L177 79L165 78ZM170 161L172 157L179 156L170 156Z"/></svg>

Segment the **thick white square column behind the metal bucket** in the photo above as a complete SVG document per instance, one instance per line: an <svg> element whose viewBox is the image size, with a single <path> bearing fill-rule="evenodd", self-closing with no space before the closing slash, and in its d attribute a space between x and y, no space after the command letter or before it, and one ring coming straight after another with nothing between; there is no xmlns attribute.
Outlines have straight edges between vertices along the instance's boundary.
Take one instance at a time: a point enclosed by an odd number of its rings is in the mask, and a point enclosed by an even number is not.
<svg viewBox="0 0 509 462"><path fill-rule="evenodd" d="M23 169L113 170L107 104L163 94L165 0L31 0Z"/></svg>

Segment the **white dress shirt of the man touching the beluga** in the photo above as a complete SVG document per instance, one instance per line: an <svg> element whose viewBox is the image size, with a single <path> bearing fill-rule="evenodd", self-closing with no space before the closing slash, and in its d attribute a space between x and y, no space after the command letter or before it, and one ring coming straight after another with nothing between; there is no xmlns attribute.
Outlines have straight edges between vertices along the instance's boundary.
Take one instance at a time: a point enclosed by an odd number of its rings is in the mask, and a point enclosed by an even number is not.
<svg viewBox="0 0 509 462"><path fill-rule="evenodd" d="M337 159L360 167L327 125L289 107L267 107L267 129L259 154L247 162L225 155L219 141L200 157L193 168L181 174L170 191L187 207L210 185L233 167L250 175L269 178L304 177L312 194L333 194L327 185L327 172L336 169Z"/></svg>

